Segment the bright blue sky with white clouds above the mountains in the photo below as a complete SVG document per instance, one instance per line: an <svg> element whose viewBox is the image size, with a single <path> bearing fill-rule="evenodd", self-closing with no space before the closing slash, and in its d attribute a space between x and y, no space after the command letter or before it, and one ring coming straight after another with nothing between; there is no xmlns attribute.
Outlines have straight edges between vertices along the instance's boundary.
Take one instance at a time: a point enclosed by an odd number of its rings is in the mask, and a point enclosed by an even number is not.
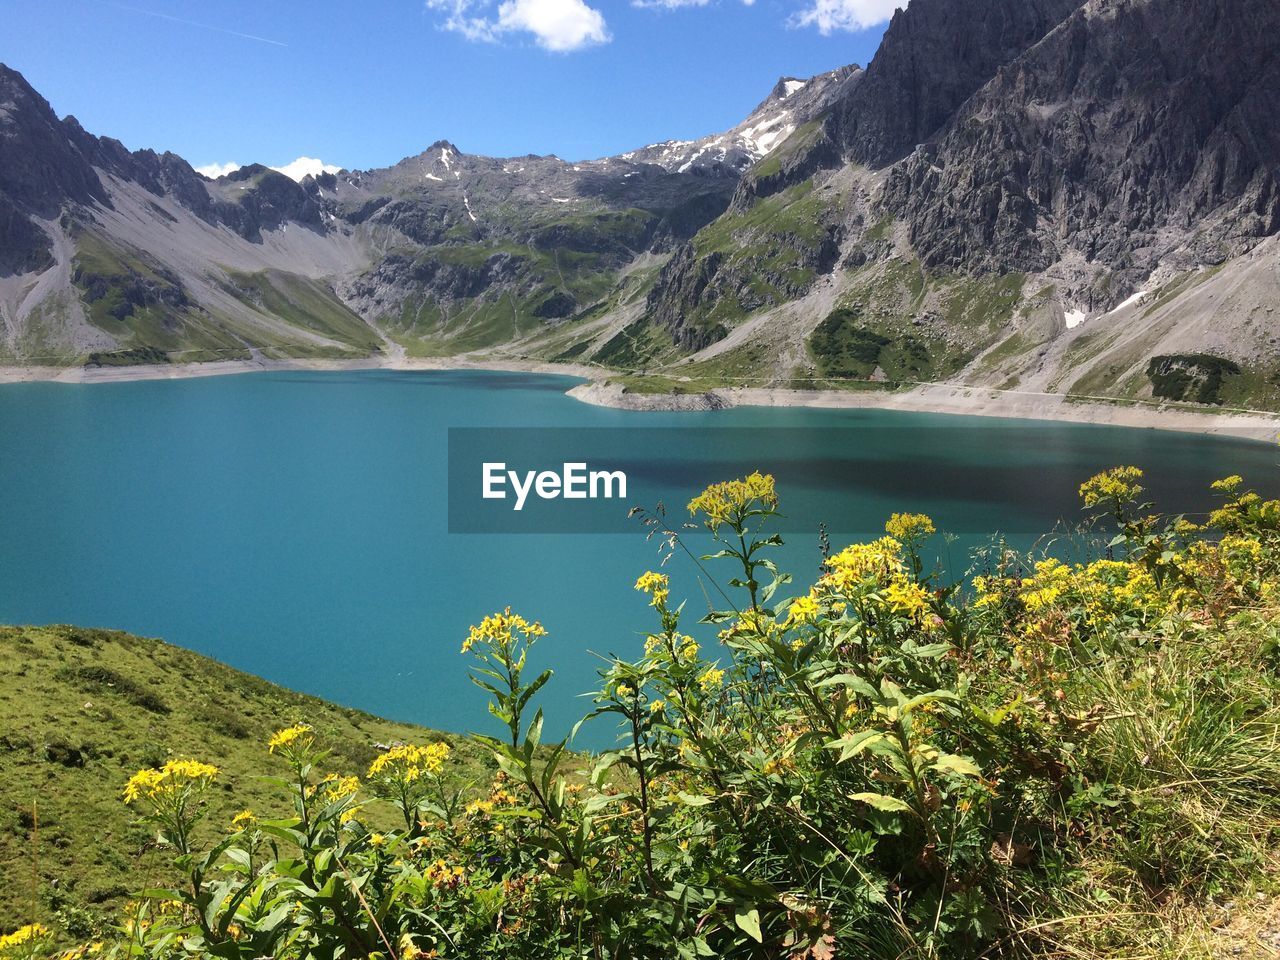
<svg viewBox="0 0 1280 960"><path fill-rule="evenodd" d="M905 0L897 0L905 4ZM577 160L733 125L874 54L895 0L0 0L59 115L195 165Z"/></svg>

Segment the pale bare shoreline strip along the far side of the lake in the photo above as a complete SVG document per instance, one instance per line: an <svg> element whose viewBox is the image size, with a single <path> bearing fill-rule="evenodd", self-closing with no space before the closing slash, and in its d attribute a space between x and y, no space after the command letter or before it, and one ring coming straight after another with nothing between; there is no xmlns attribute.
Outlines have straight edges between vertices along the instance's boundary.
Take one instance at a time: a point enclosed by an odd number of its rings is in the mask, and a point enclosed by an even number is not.
<svg viewBox="0 0 1280 960"><path fill-rule="evenodd" d="M127 383L180 380L250 372L344 370L493 370L575 376L586 380L567 393L576 401L632 411L708 411L728 407L814 407L827 410L896 410L916 413L1047 420L1135 429L1175 430L1249 440L1274 442L1280 413L1262 411L1210 412L1174 404L1133 404L1105 398L1074 399L1061 394L996 390L963 384L928 384L902 392L796 390L772 387L724 387L707 393L636 393L607 383L613 371L582 364L506 357L367 357L360 360L230 360L206 364L156 364L104 367L0 366L5 383Z"/></svg>

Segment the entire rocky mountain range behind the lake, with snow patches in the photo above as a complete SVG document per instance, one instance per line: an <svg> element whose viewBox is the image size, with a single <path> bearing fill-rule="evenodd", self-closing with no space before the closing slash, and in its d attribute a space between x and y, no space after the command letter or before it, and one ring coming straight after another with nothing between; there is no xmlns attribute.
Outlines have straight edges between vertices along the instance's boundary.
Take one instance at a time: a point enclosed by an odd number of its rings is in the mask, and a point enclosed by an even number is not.
<svg viewBox="0 0 1280 960"><path fill-rule="evenodd" d="M452 356L634 387L1280 408L1280 4L911 0L620 156L218 179L0 65L0 362Z"/></svg>

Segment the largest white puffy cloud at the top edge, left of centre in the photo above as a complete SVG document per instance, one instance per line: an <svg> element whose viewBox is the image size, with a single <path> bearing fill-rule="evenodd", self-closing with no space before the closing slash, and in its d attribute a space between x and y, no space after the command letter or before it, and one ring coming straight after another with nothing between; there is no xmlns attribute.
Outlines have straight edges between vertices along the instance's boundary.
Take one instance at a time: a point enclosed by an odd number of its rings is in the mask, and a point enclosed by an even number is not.
<svg viewBox="0 0 1280 960"><path fill-rule="evenodd" d="M608 44L604 15L584 0L503 0L493 15L488 0L426 0L443 13L445 29L467 40L495 41L508 33L529 33L544 50L570 52Z"/></svg>

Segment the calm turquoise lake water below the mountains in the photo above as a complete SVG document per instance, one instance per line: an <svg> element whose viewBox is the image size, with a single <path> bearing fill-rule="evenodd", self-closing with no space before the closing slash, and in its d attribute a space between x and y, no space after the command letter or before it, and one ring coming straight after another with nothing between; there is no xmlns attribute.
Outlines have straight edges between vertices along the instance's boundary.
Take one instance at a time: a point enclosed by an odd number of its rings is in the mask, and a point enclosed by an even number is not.
<svg viewBox="0 0 1280 960"><path fill-rule="evenodd" d="M545 705L563 732L588 708L576 695L594 680L589 652L634 654L649 623L632 584L658 544L625 520L632 503L660 498L682 518L676 508L707 483L773 471L788 515L781 562L806 582L819 520L838 548L893 511L929 513L961 535L936 545L963 570L966 548L997 529L1029 544L1076 522L1076 488L1108 466L1146 468L1169 511L1208 509L1207 484L1226 474L1280 488L1277 451L1244 440L886 411L637 413L570 399L573 383L360 371L0 387L0 622L160 636L297 690L468 731L489 719L458 646L509 604L550 631L535 666L557 671ZM616 517L611 532L572 532L563 502L553 532L451 532L451 428L554 428L568 447L573 431L612 438L631 495L591 504ZM692 563L677 556L668 571L692 621L705 611Z"/></svg>

